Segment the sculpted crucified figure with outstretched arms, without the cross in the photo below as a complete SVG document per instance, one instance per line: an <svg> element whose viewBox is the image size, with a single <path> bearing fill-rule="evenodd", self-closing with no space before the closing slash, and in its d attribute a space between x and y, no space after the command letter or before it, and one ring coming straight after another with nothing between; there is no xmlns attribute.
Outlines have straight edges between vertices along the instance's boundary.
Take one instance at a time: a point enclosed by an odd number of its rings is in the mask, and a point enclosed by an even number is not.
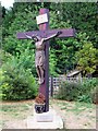
<svg viewBox="0 0 98 131"><path fill-rule="evenodd" d="M38 35L26 35L27 38L33 39L35 41L36 46L36 56L35 56L35 66L36 71L38 74L38 83L42 84L45 81L45 43L46 40L49 40L50 38L53 38L56 36L59 36L62 32L57 32L56 34L49 36L49 37L40 37Z"/></svg>

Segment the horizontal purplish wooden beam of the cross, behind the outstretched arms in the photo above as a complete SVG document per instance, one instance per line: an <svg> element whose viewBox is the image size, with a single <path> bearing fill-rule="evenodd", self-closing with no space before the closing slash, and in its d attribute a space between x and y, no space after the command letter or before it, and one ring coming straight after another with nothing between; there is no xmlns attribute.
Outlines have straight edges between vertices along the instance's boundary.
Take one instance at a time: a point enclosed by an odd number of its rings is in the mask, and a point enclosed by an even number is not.
<svg viewBox="0 0 98 131"><path fill-rule="evenodd" d="M41 37L48 37L50 35L56 34L57 32L62 32L62 34L60 34L58 37L75 37L75 29L74 28L66 28L66 29L48 29L48 31L32 31L32 32L25 32L25 33L17 33L17 38L19 39L27 39L27 37L25 36L32 36L32 35L38 35Z"/></svg>

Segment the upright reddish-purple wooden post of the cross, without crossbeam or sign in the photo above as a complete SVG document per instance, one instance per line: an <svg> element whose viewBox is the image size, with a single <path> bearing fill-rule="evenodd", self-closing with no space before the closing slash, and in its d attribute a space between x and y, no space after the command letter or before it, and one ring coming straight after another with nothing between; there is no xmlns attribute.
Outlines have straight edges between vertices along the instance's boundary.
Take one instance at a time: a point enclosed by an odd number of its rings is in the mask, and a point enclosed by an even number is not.
<svg viewBox="0 0 98 131"><path fill-rule="evenodd" d="M39 14L47 13L49 20L49 10L48 9L40 9ZM39 24L40 31L47 31L49 28L49 22L44 24ZM45 112L49 111L49 40L45 43L45 82L39 86L39 93L44 94L46 97L46 109Z"/></svg>

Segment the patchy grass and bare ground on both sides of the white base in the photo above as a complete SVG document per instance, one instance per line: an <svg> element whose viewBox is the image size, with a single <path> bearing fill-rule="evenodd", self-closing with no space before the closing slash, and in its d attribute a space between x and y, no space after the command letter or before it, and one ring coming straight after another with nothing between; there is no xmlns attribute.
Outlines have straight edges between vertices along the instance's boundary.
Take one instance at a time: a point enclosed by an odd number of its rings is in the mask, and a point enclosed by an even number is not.
<svg viewBox="0 0 98 131"><path fill-rule="evenodd" d="M26 119L34 114L34 100L0 103L0 129L27 129ZM96 129L96 105L50 99L64 122L64 129Z"/></svg>

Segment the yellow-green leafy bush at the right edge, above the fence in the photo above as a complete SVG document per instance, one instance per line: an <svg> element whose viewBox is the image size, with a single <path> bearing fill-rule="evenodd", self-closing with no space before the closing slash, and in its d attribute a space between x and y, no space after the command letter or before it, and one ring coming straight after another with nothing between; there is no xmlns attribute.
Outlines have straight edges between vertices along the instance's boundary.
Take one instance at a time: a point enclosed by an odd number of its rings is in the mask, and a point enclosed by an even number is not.
<svg viewBox="0 0 98 131"><path fill-rule="evenodd" d="M83 45L83 49L76 52L77 67L86 74L91 74L96 71L98 50L94 48L90 41Z"/></svg>

